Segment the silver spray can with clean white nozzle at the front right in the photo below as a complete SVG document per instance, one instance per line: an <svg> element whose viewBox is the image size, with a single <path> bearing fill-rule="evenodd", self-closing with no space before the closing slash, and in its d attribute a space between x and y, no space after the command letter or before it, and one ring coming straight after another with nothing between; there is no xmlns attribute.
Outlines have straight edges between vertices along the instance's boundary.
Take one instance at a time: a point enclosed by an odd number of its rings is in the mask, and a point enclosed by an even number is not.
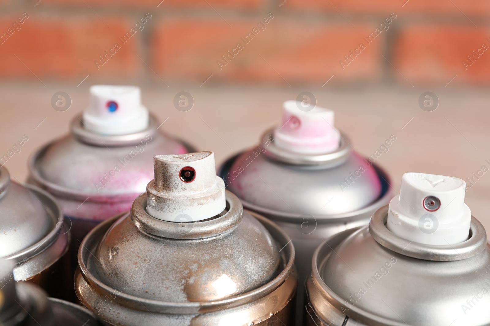
<svg viewBox="0 0 490 326"><path fill-rule="evenodd" d="M368 227L315 251L308 326L490 325L490 247L465 181L407 173Z"/></svg>

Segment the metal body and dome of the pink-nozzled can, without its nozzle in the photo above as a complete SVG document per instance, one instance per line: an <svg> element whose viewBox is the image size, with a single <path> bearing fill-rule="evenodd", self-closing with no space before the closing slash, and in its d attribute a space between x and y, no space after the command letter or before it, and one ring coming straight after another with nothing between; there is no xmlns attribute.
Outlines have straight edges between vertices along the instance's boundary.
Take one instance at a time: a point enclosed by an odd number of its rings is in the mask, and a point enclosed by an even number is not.
<svg viewBox="0 0 490 326"><path fill-rule="evenodd" d="M303 284L310 275L313 252L324 239L367 225L371 215L392 198L390 178L351 151L345 137L336 152L324 155L288 152L271 138L269 130L259 146L227 160L220 176L246 209L274 220L293 239L300 284L296 324L300 325ZM353 178L360 166L366 171ZM352 182L346 184L344 178L349 177Z"/></svg>

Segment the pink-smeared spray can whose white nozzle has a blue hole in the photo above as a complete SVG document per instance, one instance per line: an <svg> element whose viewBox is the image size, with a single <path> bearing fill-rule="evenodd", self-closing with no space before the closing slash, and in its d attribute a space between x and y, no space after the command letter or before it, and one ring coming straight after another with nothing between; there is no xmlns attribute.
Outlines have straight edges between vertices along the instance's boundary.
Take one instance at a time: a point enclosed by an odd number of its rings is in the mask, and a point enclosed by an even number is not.
<svg viewBox="0 0 490 326"><path fill-rule="evenodd" d="M139 87L95 85L70 134L32 155L29 182L55 196L69 218L74 266L83 237L99 222L128 211L145 191L153 156L188 152L160 127L141 104Z"/></svg>

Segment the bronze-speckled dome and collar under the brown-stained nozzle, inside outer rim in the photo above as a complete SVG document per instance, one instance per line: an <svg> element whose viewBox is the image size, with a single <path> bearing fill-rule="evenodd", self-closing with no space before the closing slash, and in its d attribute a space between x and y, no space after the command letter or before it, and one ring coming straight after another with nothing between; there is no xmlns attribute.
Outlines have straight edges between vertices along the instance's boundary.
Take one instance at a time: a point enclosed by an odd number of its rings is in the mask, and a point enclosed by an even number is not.
<svg viewBox="0 0 490 326"><path fill-rule="evenodd" d="M159 220L146 206L147 196L138 197L131 217L117 220L95 258L85 258L99 282L132 297L190 303L233 297L277 275L280 248L236 196L228 194L222 216L202 222Z"/></svg>

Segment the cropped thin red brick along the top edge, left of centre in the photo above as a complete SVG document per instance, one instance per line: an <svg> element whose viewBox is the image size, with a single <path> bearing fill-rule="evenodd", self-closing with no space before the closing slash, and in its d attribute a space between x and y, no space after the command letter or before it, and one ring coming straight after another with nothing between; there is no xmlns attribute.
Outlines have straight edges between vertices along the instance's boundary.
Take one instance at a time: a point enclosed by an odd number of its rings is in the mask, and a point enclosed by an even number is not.
<svg viewBox="0 0 490 326"><path fill-rule="evenodd" d="M1 1L1 0L0 0ZM36 0L33 0L36 1ZM213 8L255 9L262 7L266 0L44 0L44 4L58 4L69 6L127 6L146 7L154 10L168 8L206 8L214 12ZM161 3L160 3L161 2ZM158 5L158 8L157 8Z"/></svg>

